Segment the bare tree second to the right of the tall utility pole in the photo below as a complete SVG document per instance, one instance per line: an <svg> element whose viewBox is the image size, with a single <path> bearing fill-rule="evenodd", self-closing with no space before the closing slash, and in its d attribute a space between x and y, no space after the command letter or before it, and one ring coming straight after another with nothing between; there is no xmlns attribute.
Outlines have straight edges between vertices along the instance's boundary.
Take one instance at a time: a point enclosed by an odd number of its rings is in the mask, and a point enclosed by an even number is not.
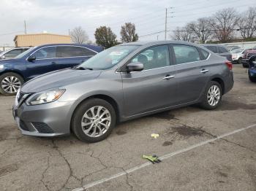
<svg viewBox="0 0 256 191"><path fill-rule="evenodd" d="M211 23L211 18L203 17L197 19L195 22L188 23L187 28L195 34L196 39L200 43L206 43L214 35Z"/></svg>

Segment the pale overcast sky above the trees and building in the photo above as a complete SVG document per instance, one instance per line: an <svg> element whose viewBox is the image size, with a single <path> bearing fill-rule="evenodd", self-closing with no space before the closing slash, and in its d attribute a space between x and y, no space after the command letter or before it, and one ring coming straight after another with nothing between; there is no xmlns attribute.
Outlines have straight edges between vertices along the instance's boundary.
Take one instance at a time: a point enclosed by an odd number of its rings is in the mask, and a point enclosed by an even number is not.
<svg viewBox="0 0 256 191"><path fill-rule="evenodd" d="M1 0L0 46L13 45L15 34L24 34L23 20L28 34L47 31L68 34L75 26L83 27L94 42L94 31L99 26L110 26L120 39L120 28L125 22L135 23L140 40L164 39L164 34L144 36L165 30L165 8L169 13L167 29L184 26L198 17L208 17L219 9L234 7L243 12L256 6L252 0Z"/></svg>

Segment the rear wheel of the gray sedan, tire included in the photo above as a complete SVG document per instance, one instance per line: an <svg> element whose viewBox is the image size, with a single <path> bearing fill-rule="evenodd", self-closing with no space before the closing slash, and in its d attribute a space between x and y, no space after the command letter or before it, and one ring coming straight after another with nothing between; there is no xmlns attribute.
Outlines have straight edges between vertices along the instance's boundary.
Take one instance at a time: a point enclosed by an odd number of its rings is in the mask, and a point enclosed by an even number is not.
<svg viewBox="0 0 256 191"><path fill-rule="evenodd" d="M203 94L203 101L200 103L204 109L216 109L222 102L222 87L218 82L211 81Z"/></svg>

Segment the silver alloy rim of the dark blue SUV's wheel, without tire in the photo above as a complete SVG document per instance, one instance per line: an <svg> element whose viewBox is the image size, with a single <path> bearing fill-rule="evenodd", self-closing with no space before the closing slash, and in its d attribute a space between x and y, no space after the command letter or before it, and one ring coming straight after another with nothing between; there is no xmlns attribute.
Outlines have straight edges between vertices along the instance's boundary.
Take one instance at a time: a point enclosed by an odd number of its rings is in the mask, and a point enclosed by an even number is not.
<svg viewBox="0 0 256 191"><path fill-rule="evenodd" d="M1 88L6 92L6 93L17 93L18 89L21 86L20 79L18 77L5 77L1 81Z"/></svg>

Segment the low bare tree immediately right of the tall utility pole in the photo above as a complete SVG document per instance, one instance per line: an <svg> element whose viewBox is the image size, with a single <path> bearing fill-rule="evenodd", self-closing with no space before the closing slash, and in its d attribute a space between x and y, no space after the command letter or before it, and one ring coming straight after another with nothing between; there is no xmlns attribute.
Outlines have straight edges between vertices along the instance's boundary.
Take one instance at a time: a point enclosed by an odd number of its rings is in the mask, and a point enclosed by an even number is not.
<svg viewBox="0 0 256 191"><path fill-rule="evenodd" d="M185 27L177 27L175 31L173 31L173 35L171 36L174 40L183 40L187 42L195 42L195 36L192 31L189 30L188 26Z"/></svg>

